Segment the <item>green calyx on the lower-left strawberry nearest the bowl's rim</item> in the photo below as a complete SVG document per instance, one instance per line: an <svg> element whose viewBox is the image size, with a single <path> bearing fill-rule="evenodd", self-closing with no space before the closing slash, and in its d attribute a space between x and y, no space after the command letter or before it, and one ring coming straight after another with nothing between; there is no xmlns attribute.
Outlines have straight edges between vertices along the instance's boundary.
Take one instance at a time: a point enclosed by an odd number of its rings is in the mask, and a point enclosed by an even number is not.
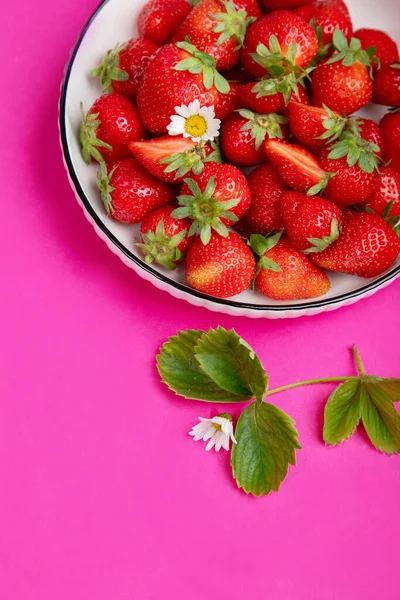
<svg viewBox="0 0 400 600"><path fill-rule="evenodd" d="M155 232L151 229L146 231L142 235L143 243L136 245L141 248L147 265L155 261L169 271L173 271L183 258L178 246L186 234L186 230L182 230L172 237L166 235L164 221L159 221Z"/></svg>

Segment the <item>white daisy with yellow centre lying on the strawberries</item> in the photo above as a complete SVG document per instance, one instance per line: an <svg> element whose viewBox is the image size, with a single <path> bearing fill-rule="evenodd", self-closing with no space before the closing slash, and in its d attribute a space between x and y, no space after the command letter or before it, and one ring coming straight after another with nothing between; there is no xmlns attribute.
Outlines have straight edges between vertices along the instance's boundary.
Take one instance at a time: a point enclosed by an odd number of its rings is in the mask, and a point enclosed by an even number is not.
<svg viewBox="0 0 400 600"><path fill-rule="evenodd" d="M183 135L195 143L212 141L219 135L221 121L215 118L213 106L200 106L194 100L188 106L175 106L175 112L167 127L169 135Z"/></svg>

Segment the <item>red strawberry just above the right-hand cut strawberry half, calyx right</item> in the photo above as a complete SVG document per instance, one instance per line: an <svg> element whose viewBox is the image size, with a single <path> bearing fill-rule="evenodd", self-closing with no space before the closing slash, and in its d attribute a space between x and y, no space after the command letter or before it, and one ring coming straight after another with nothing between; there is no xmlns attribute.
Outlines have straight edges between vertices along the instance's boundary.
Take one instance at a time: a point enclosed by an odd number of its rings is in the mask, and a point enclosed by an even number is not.
<svg viewBox="0 0 400 600"><path fill-rule="evenodd" d="M339 137L346 124L346 119L327 107L292 101L286 111L293 135L310 150L318 150L325 146L328 139Z"/></svg>

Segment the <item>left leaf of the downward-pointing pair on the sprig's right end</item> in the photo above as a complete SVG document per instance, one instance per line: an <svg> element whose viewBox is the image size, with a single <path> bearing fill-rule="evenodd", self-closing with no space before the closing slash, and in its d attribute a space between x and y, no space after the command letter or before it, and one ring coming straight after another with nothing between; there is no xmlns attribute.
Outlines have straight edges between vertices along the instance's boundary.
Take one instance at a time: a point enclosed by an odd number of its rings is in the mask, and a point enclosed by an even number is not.
<svg viewBox="0 0 400 600"><path fill-rule="evenodd" d="M330 396L325 406L324 441L341 444L354 433L361 418L361 382L346 381Z"/></svg>

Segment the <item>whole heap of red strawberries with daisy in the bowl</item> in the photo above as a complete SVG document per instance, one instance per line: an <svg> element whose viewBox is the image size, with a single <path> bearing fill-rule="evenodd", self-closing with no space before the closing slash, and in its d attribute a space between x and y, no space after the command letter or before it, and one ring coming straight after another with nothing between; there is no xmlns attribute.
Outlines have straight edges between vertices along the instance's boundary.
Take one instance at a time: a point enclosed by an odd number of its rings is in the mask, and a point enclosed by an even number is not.
<svg viewBox="0 0 400 600"><path fill-rule="evenodd" d="M279 9L279 10L278 10ZM314 298L400 252L400 62L342 0L150 0L92 71L86 162L145 261L219 298ZM380 124L354 115L391 107ZM253 169L255 167L255 169ZM234 231L235 229L236 231Z"/></svg>

